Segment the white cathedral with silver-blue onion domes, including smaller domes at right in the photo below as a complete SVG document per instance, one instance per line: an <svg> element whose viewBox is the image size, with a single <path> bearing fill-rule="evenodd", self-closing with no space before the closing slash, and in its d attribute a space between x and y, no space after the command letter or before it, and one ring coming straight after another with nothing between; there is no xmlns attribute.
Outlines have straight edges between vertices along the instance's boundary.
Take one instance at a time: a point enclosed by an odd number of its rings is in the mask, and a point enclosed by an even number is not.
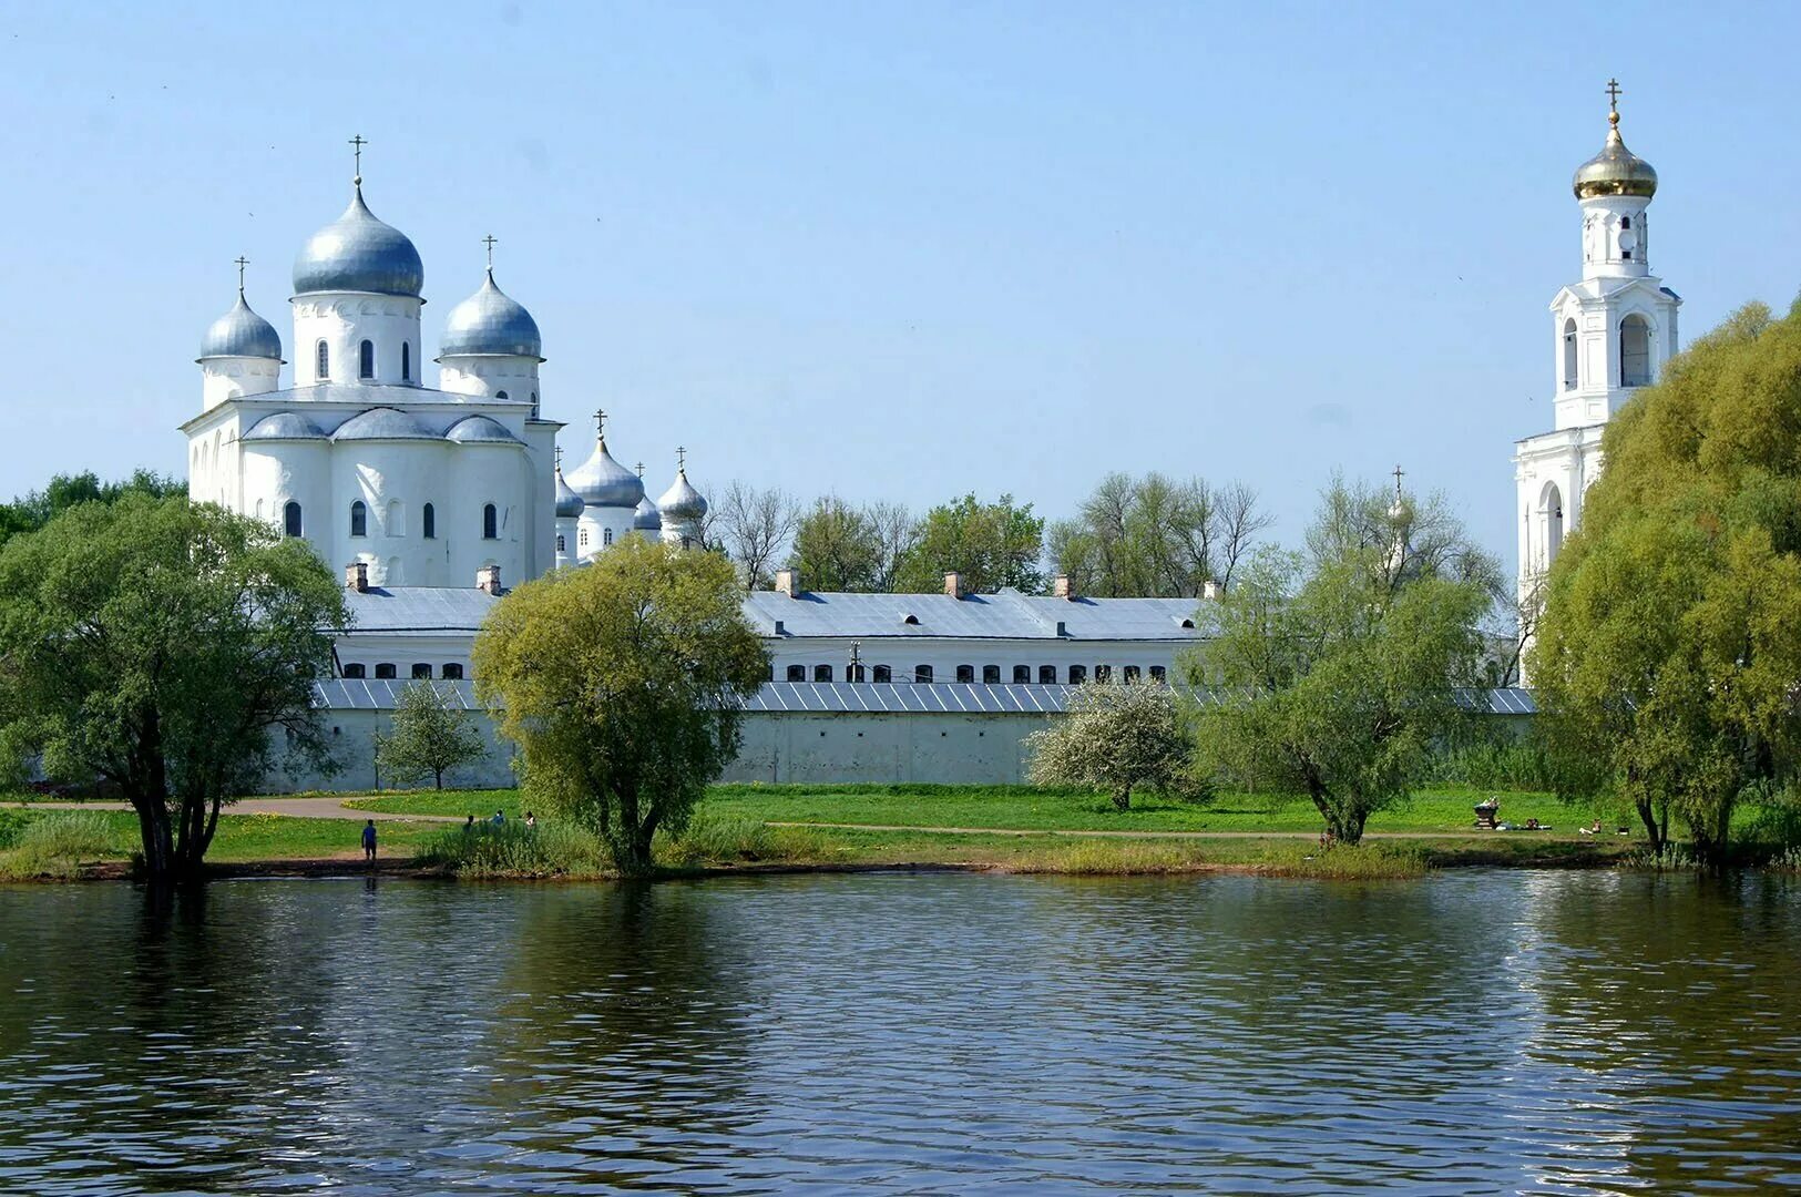
<svg viewBox="0 0 1801 1197"><path fill-rule="evenodd" d="M360 139L358 139L360 155ZM706 500L677 454L650 502L607 450L567 479L540 412L544 364L531 313L488 275L450 310L438 387L423 382L425 268L412 241L375 218L353 180L349 207L294 261L294 383L281 337L238 302L196 358L202 410L187 434L187 490L304 538L353 589L483 587L580 563L632 533L692 544Z"/></svg>

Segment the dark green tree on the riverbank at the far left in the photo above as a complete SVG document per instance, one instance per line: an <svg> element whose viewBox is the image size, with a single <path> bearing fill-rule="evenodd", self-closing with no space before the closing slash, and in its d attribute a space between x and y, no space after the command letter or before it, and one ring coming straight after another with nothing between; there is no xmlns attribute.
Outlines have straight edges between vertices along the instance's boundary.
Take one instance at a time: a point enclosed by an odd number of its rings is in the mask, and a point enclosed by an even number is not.
<svg viewBox="0 0 1801 1197"><path fill-rule="evenodd" d="M0 747L117 787L153 877L200 869L272 733L330 769L312 684L344 596L299 540L187 499L83 502L0 551Z"/></svg>

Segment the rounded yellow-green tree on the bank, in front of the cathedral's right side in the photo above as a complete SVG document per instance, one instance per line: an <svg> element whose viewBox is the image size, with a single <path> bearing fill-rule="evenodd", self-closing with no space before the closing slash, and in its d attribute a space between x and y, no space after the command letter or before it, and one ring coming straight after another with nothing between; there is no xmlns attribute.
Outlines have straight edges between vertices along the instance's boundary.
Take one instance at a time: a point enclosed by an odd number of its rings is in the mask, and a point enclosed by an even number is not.
<svg viewBox="0 0 1801 1197"><path fill-rule="evenodd" d="M769 679L731 563L629 538L502 598L474 648L475 693L537 801L650 868L731 763L742 702Z"/></svg>

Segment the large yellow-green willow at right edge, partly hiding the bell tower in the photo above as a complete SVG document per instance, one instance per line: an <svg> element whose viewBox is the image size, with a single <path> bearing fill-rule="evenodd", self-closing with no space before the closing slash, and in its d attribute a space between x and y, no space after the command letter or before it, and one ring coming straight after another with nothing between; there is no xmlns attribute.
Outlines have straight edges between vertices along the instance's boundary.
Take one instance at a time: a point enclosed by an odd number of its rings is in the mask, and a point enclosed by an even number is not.
<svg viewBox="0 0 1801 1197"><path fill-rule="evenodd" d="M1801 747L1801 304L1671 358L1603 452L1545 580L1538 724L1565 792L1614 788L1653 851L1675 814L1720 864L1733 810Z"/></svg>

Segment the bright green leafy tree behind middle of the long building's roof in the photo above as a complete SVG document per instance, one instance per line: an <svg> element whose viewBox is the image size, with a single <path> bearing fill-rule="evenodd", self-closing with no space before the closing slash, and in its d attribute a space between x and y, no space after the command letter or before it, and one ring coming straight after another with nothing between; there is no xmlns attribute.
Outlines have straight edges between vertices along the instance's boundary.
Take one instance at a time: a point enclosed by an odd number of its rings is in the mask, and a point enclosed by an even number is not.
<svg viewBox="0 0 1801 1197"><path fill-rule="evenodd" d="M1018 506L1012 495L987 504L964 495L926 513L897 589L937 590L944 574L956 572L969 590L980 594L1001 587L1037 594L1045 589L1043 554L1045 520L1032 515L1032 504Z"/></svg>

